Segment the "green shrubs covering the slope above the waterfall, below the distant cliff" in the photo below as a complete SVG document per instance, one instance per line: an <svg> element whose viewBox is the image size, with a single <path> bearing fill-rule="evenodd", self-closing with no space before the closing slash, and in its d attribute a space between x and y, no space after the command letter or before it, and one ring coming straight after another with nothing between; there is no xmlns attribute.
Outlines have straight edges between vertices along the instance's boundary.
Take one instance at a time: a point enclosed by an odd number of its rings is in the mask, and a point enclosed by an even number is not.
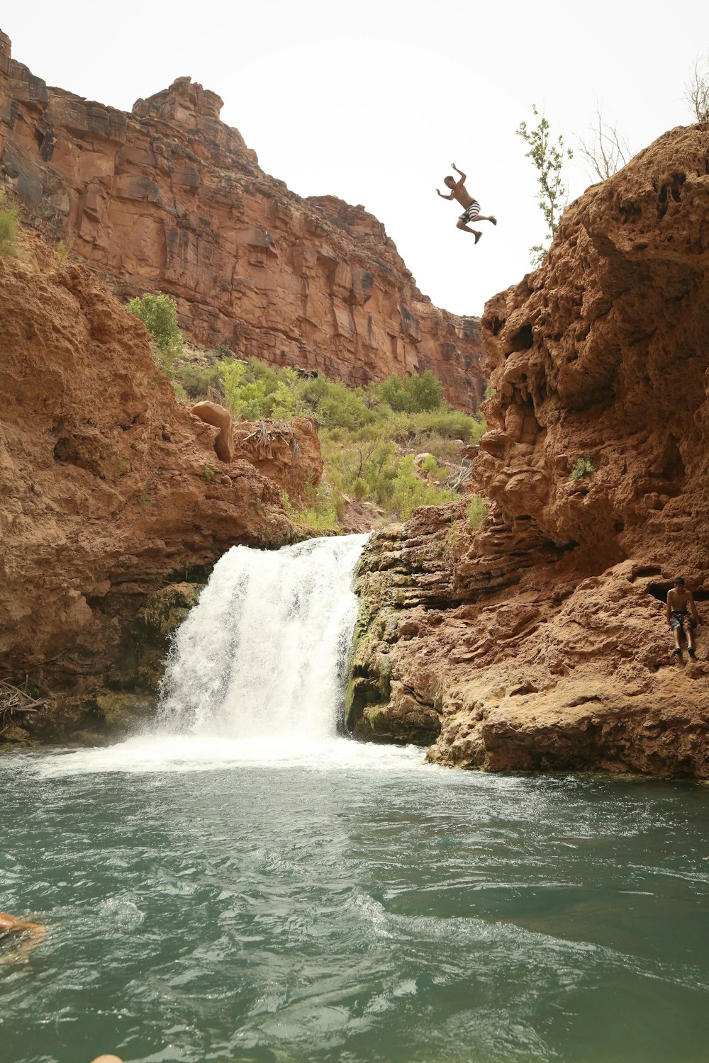
<svg viewBox="0 0 709 1063"><path fill-rule="evenodd" d="M482 416L443 401L428 371L350 388L324 376L302 379L293 369L256 359L239 361L230 352L209 367L183 362L171 375L188 401L216 399L236 420L316 419L323 480L308 489L303 509L289 499L284 505L294 523L320 533L338 529L349 501L381 510L385 523L406 520L417 506L459 499L469 469L460 451L485 432ZM417 467L422 452L429 456Z"/></svg>

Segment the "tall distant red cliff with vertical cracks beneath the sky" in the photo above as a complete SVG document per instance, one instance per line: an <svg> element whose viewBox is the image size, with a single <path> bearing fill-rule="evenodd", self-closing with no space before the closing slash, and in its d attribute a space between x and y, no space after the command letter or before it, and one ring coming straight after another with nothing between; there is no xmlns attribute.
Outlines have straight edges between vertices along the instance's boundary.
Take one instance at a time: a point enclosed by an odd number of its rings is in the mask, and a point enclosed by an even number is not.
<svg viewBox="0 0 709 1063"><path fill-rule="evenodd" d="M422 296L361 206L263 172L188 78L131 114L49 88L0 33L0 185L122 299L161 289L196 341L353 385L431 369L476 409L479 322Z"/></svg>

